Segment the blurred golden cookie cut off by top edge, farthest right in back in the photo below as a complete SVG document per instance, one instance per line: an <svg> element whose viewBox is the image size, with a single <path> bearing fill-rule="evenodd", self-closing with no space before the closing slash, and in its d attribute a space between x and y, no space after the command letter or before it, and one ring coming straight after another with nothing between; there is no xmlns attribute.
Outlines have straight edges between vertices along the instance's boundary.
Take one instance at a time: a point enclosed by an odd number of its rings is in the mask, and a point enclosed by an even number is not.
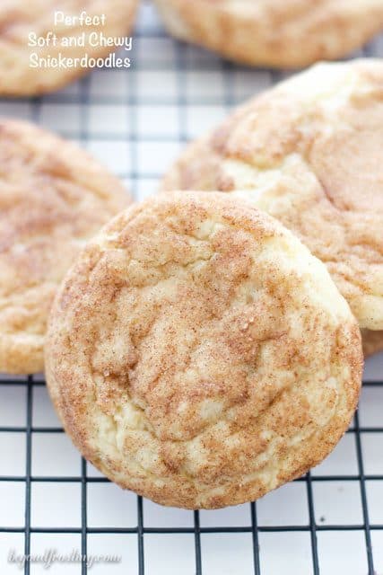
<svg viewBox="0 0 383 575"><path fill-rule="evenodd" d="M156 0L169 31L251 66L342 57L383 30L381 0Z"/></svg>

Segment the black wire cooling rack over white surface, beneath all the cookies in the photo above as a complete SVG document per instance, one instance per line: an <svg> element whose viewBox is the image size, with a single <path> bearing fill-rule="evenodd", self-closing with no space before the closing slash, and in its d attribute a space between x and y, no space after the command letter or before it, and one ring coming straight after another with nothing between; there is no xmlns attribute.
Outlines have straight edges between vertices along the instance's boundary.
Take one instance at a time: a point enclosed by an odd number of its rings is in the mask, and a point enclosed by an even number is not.
<svg viewBox="0 0 383 575"><path fill-rule="evenodd" d="M383 56L383 40L362 54ZM78 140L143 199L185 141L283 76L170 40L147 3L132 57L127 72L100 70L42 99L3 101L0 113ZM119 558L54 562L55 575L383 575L382 373L383 356L368 362L360 410L323 464L257 503L209 512L119 490L72 447L42 376L3 376L0 572L46 573L41 562L18 569L13 553L53 551Z"/></svg>

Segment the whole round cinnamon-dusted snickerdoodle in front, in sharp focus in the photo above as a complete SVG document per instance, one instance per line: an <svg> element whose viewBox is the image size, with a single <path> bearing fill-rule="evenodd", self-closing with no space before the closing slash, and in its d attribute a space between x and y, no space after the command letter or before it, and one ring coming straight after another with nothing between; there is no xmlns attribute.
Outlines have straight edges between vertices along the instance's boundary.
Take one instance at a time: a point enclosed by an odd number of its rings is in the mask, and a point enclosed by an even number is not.
<svg viewBox="0 0 383 575"><path fill-rule="evenodd" d="M361 336L326 267L246 202L165 194L67 274L46 348L74 444L165 505L254 500L318 464L361 385Z"/></svg>

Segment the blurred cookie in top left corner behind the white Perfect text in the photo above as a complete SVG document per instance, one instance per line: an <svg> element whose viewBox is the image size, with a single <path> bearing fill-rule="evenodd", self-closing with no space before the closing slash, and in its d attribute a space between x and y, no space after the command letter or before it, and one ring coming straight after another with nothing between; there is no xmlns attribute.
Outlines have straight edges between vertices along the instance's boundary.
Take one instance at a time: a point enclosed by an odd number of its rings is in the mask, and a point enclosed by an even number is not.
<svg viewBox="0 0 383 575"><path fill-rule="evenodd" d="M117 49L116 42L128 39L137 4L138 0L2 0L0 95L48 93L85 74L94 67L91 58L108 57Z"/></svg>

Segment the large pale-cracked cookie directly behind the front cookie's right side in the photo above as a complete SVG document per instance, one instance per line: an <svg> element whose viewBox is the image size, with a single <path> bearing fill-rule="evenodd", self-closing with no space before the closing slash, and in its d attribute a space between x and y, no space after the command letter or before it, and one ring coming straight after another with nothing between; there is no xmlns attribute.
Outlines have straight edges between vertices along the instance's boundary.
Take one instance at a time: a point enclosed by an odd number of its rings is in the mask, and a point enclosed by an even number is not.
<svg viewBox="0 0 383 575"><path fill-rule="evenodd" d="M324 261L362 328L383 330L383 62L321 64L190 146L168 190L255 202Z"/></svg>

